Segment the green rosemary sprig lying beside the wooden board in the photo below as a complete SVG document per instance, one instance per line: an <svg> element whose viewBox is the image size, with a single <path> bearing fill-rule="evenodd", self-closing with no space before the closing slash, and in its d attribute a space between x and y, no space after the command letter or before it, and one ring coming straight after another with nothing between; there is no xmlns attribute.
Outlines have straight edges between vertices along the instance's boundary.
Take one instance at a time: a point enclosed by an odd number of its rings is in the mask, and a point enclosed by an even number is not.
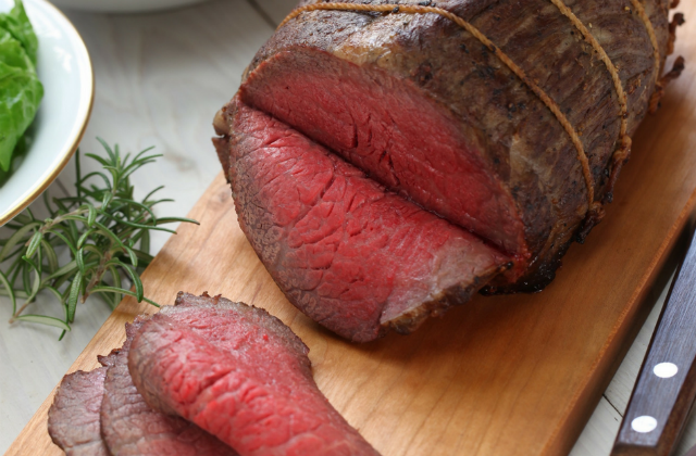
<svg viewBox="0 0 696 456"><path fill-rule="evenodd" d="M11 235L0 239L0 265L7 266L0 270L0 295L8 296L12 303L10 322L57 327L63 330L60 337L63 339L75 320L77 303L84 303L90 294L100 296L111 308L126 294L159 307L145 297L139 277L152 259L150 231L175 233L161 225L198 221L184 217L158 218L152 207L172 201L154 199L162 187L140 202L134 200L129 177L161 156L150 154L152 148L130 157L130 154L122 156L119 145L112 149L103 140L99 141L105 156L86 156L97 161L103 170L82 176L79 151L75 155L75 197L49 200L45 192L49 218L39 220L26 208L5 225ZM63 318L25 313L41 292L52 294L60 302Z"/></svg>

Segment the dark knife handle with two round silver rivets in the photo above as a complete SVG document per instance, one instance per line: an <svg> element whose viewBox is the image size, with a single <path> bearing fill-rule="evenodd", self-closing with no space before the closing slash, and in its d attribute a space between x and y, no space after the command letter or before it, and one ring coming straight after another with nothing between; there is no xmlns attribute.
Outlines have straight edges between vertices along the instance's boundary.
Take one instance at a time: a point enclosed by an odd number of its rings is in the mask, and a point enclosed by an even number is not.
<svg viewBox="0 0 696 456"><path fill-rule="evenodd" d="M612 456L667 456L696 395L696 241L679 267Z"/></svg>

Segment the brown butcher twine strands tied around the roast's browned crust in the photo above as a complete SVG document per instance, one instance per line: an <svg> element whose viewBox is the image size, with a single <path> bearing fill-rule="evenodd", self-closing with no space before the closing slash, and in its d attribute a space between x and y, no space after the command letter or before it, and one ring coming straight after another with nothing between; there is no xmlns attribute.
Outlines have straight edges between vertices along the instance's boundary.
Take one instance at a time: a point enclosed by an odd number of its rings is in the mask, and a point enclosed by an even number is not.
<svg viewBox="0 0 696 456"><path fill-rule="evenodd" d="M623 85L621 84L621 78L619 77L619 72L617 67L613 65L607 52L604 48L597 42L595 37L589 33L589 30L585 27L585 25L573 14L573 12L561 1L561 0L550 0L554 5L556 5L559 11L567 16L577 28L585 40L587 40L591 46L597 51L600 60L606 65L609 74L611 75L611 79L613 81L614 89L617 91L619 98L620 105L620 119L621 127L619 134L619 148L613 153L612 162L613 166L618 166L621 162L623 162L631 150L631 138L626 135L627 129L627 102L626 96L623 90ZM644 22L645 27L647 28L648 35L650 37L650 41L652 42L652 47L655 49L655 61L657 65L656 74L659 78L659 62L660 54L657 46L657 38L655 36L655 30L652 28L652 24L649 21L649 17L645 13L643 5L638 0L631 0L635 10L638 13L638 16ZM318 11L318 10L339 10L339 11L368 11L368 12L382 12L382 13L406 13L406 14L426 14L434 13L439 14L443 17L446 17L464 28L471 35L474 36L478 41L481 41L485 47L487 47L492 52L496 54L496 56L512 71L526 86L542 100L542 102L554 113L558 122L561 124L568 136L570 137L573 145L575 145L575 150L577 151L577 160L580 161L583 169L583 177L585 179L585 185L587 187L587 212L594 213L596 216L601 217L601 203L595 201L595 185L594 178L592 176L592 172L589 169L589 161L587 160L587 154L585 153L585 148L583 147L582 141L580 140L580 136L577 131L573 128L573 126L568 121L568 117L561 112L560 107L532 79L530 79L524 69L518 66L512 60L502 52L497 46L495 46L484 34L481 33L476 27L461 18L455 13L451 13L447 10L436 7L425 7L425 5L415 5L415 4L360 4L360 3L312 3L306 4L303 7L299 7L295 9L290 14L287 15L278 25L277 28L283 27L288 21L297 17L303 12L308 11Z"/></svg>

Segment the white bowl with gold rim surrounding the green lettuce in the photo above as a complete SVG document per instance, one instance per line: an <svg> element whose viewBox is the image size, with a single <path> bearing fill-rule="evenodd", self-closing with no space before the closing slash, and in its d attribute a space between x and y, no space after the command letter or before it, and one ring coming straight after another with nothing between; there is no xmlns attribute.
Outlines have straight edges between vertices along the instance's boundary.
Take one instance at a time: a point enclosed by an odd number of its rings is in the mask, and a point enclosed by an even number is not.
<svg viewBox="0 0 696 456"><path fill-rule="evenodd" d="M9 11L12 0L0 0ZM33 125L33 142L0 187L0 226L34 201L58 177L77 149L95 93L87 48L75 27L46 0L24 0L39 39L37 71L44 100Z"/></svg>

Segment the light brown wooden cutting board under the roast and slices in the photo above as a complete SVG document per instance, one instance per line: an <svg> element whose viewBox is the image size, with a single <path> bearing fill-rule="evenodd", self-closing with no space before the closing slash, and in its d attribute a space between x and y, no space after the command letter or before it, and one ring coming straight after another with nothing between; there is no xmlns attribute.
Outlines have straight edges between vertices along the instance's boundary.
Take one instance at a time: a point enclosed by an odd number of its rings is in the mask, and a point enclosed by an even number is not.
<svg viewBox="0 0 696 456"><path fill-rule="evenodd" d="M682 10L696 16L694 2ZM566 454L696 202L695 27L682 27L676 54L687 69L635 137L605 221L542 293L476 296L412 335L347 343L285 300L239 230L221 174L190 213L201 225L183 226L145 271L146 294L173 303L179 290L208 291L265 307L307 343L321 390L385 456ZM96 367L123 342L124 324L152 311L124 300L71 371ZM52 398L8 455L62 454L46 428Z"/></svg>

